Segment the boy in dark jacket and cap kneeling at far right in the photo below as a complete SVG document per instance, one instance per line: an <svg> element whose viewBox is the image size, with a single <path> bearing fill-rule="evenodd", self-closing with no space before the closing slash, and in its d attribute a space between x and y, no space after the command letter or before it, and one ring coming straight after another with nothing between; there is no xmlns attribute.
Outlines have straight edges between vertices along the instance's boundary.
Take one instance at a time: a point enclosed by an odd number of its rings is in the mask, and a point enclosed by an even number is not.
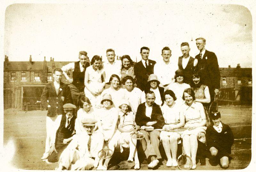
<svg viewBox="0 0 256 172"><path fill-rule="evenodd" d="M222 168L228 168L229 154L234 143L233 133L227 124L220 121L220 112L212 112L210 118L212 123L206 129L207 149L211 152L212 162L220 160Z"/></svg>

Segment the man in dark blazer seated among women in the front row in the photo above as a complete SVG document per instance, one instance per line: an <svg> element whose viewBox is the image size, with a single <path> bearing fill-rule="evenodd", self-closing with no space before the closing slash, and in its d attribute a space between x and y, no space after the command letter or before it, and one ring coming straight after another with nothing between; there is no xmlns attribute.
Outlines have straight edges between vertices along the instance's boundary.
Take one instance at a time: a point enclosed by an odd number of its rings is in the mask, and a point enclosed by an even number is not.
<svg viewBox="0 0 256 172"><path fill-rule="evenodd" d="M160 131L147 129L162 129L164 126L164 117L161 108L154 102L155 93L149 91L146 94L146 102L138 106L135 122L140 126L140 132L145 139L140 140L142 148L148 161L148 168L154 168L158 164L157 159L161 159L159 151Z"/></svg>

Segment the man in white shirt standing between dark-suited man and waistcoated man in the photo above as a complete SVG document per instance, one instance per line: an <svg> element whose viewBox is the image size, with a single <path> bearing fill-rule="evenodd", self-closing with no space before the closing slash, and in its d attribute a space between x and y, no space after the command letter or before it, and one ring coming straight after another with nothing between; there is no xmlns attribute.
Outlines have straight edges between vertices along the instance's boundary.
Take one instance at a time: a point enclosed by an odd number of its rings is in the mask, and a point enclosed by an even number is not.
<svg viewBox="0 0 256 172"><path fill-rule="evenodd" d="M170 61L172 51L169 47L162 49L163 61L156 63L154 67L154 74L158 77L161 87L167 90L169 84L174 82L175 71L178 70L178 66Z"/></svg>

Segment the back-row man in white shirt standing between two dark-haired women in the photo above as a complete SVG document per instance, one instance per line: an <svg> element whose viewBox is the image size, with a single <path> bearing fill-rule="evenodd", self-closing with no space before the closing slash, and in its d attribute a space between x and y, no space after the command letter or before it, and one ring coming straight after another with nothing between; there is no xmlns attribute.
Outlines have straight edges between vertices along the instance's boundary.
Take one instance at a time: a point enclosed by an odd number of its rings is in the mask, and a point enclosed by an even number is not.
<svg viewBox="0 0 256 172"><path fill-rule="evenodd" d="M108 61L103 63L103 67L106 74L105 81L108 83L112 74L116 74L121 78L122 62L121 60L115 60L116 55L114 49L107 49L106 54ZM107 84L105 88L108 88L109 86L110 85Z"/></svg>

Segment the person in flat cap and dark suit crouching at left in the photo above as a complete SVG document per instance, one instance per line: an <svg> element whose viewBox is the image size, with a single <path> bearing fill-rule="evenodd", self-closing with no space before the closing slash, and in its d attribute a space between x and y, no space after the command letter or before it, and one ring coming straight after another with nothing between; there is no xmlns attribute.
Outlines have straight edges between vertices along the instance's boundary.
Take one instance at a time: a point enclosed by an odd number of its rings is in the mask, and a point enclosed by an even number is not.
<svg viewBox="0 0 256 172"><path fill-rule="evenodd" d="M52 143L48 161L49 162L58 162L60 154L68 146L68 142L72 140L72 134L75 130L75 109L76 106L67 103L63 105L64 112L66 115L62 115L60 126L56 132L55 143Z"/></svg>

